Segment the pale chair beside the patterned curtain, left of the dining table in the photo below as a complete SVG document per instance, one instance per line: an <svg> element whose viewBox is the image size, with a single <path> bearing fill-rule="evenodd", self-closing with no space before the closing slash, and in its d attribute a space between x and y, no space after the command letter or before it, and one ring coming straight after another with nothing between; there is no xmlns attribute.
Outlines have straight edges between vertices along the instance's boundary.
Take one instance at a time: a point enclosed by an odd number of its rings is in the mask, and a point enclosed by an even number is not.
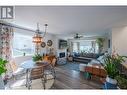
<svg viewBox="0 0 127 95"><path fill-rule="evenodd" d="M12 78L14 80L20 79L23 75L26 74L26 70L24 68L19 67L14 60L10 61L10 67L12 70Z"/></svg>

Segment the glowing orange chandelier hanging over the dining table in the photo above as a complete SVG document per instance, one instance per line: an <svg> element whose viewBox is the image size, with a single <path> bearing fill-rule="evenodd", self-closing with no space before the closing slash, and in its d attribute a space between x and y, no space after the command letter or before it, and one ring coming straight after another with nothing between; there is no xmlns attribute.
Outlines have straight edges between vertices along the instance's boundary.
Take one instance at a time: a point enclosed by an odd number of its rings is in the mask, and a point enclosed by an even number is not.
<svg viewBox="0 0 127 95"><path fill-rule="evenodd" d="M47 26L48 26L48 24L45 24L45 32L44 32L43 37L46 34ZM33 36L33 43L40 44L42 42L43 37L41 36L41 32L39 30L39 23L37 23L37 30L35 32L35 35Z"/></svg>

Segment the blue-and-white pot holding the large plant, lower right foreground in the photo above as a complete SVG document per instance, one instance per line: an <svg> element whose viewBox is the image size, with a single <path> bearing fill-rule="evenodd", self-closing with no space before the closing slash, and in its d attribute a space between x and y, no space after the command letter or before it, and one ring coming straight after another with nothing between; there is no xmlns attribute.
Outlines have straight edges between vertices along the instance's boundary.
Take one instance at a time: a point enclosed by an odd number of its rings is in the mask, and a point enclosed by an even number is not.
<svg viewBox="0 0 127 95"><path fill-rule="evenodd" d="M117 89L117 81L110 77L106 77L106 82L104 84L105 89Z"/></svg>

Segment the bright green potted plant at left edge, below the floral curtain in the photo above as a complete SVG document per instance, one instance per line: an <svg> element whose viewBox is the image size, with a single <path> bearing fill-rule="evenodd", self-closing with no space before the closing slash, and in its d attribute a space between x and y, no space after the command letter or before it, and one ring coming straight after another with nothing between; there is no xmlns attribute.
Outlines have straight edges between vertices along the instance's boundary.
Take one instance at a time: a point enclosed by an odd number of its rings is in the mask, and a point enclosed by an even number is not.
<svg viewBox="0 0 127 95"><path fill-rule="evenodd" d="M6 63L7 63L7 60L0 58L0 89L4 89L2 74L7 71Z"/></svg>

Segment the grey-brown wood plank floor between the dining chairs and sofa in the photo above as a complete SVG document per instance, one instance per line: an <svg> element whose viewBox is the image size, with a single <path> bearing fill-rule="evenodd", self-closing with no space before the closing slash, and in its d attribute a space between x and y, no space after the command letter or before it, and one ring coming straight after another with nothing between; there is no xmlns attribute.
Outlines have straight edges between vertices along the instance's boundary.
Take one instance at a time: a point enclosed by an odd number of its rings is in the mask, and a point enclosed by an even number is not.
<svg viewBox="0 0 127 95"><path fill-rule="evenodd" d="M73 64L72 64L73 65ZM64 66L56 67L56 79L52 89L101 89L97 79L86 80L82 72L69 70Z"/></svg>

